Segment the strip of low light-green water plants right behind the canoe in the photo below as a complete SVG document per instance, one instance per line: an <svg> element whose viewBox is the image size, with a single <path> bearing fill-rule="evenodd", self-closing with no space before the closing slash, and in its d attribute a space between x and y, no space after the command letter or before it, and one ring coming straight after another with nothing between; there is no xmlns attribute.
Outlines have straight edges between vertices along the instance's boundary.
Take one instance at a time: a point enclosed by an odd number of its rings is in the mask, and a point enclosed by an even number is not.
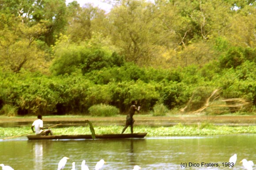
<svg viewBox="0 0 256 170"><path fill-rule="evenodd" d="M95 134L120 134L123 126L94 127ZM129 130L129 129L128 129ZM30 127L0 127L0 137L10 137L30 133ZM90 127L64 127L54 128L54 134L91 134ZM256 126L229 127L200 124L184 126L177 124L173 127L134 127L134 133L147 132L150 136L194 136L194 135L224 135L224 134L255 134Z"/></svg>

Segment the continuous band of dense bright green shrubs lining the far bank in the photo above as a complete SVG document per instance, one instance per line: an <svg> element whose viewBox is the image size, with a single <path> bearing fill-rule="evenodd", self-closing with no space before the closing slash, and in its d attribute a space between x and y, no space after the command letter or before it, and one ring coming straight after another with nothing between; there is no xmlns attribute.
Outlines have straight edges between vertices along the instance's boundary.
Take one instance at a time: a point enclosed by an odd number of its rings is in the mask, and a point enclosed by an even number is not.
<svg viewBox="0 0 256 170"><path fill-rule="evenodd" d="M52 76L23 69L15 74L0 70L0 109L5 110L1 114L9 111L8 115L16 112L18 115L88 114L89 108L98 104L113 105L123 113L128 111L131 101L138 101L142 112L152 111L158 102L168 109L187 106L185 111L194 111L218 88L222 89L222 98L242 98L252 104L243 108L243 112L252 112L256 106L254 49L234 47L223 51L224 58L238 56L242 59L236 64L222 58L220 61L228 61L225 69L221 67L225 62L218 61L203 67L155 69L124 62L108 51L82 49L82 46L76 51L77 48L58 53L63 61L56 58ZM72 58L76 59L72 61ZM223 113L218 108L207 111Z"/></svg>

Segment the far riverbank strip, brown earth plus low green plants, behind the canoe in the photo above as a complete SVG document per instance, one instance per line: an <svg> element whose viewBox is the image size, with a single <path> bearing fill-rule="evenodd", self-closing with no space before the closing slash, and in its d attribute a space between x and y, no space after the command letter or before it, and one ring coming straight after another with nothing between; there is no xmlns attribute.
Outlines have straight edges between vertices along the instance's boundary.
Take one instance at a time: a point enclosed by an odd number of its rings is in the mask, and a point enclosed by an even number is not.
<svg viewBox="0 0 256 170"><path fill-rule="evenodd" d="M21 123L18 127L0 127L0 137L31 133L34 117L0 117L0 123ZM118 134L122 131L125 116L45 116L45 126L62 123L53 129L54 134L90 134L84 120L89 119L96 134ZM149 116L136 115L135 133L147 132L147 136L194 136L256 133L256 116ZM29 123L29 124L27 124ZM71 123L71 124L70 124ZM72 124L73 123L73 124ZM130 133L130 128L126 130Z"/></svg>

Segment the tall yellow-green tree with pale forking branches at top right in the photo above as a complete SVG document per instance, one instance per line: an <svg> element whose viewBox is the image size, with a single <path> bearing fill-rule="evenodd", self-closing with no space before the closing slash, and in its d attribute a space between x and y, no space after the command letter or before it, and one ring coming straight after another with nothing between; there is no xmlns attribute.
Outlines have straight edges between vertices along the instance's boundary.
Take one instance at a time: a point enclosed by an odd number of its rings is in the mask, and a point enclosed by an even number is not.
<svg viewBox="0 0 256 170"><path fill-rule="evenodd" d="M230 23L233 4L223 0L171 0L178 14L189 23L186 39L220 36ZM188 41L190 41L188 40ZM187 41L187 42L188 42Z"/></svg>

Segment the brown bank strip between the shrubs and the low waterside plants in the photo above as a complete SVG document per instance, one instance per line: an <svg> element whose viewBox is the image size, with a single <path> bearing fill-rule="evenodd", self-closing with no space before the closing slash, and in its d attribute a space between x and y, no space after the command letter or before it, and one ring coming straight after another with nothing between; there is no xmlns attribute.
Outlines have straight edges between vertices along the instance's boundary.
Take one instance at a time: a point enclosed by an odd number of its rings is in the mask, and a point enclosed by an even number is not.
<svg viewBox="0 0 256 170"><path fill-rule="evenodd" d="M7 117L0 116L0 125L4 123L30 124L36 119L36 116L17 116ZM102 125L123 125L126 115L114 117L92 117L92 116L43 116L44 122L47 124L62 123L62 124L83 124L84 120ZM214 125L226 126L256 126L256 115L171 115L171 116L151 116L151 115L135 115L137 125L143 126L174 126L176 124L192 125L197 123L211 123Z"/></svg>

